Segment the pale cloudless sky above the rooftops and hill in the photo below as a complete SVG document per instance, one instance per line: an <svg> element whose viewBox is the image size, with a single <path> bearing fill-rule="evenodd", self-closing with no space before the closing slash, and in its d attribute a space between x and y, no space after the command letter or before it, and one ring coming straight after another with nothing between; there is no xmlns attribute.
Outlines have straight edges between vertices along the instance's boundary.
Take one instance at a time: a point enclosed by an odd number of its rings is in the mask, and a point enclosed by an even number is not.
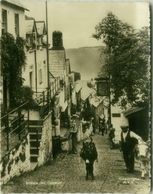
<svg viewBox="0 0 153 194"><path fill-rule="evenodd" d="M26 15L45 20L45 0L16 1L29 9ZM61 31L66 49L102 45L101 41L92 38L92 34L110 11L136 29L149 26L149 4L145 2L48 0L49 42L53 31Z"/></svg>

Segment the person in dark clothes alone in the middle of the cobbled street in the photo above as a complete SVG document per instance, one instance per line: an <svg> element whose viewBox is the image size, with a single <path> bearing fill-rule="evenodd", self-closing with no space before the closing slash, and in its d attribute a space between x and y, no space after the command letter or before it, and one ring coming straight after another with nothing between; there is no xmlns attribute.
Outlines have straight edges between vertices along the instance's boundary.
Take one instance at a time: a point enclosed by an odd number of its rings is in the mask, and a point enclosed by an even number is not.
<svg viewBox="0 0 153 194"><path fill-rule="evenodd" d="M97 160L98 153L91 136L83 142L80 157L85 161L86 180L88 180L89 176L91 176L92 180L94 180L94 161Z"/></svg>

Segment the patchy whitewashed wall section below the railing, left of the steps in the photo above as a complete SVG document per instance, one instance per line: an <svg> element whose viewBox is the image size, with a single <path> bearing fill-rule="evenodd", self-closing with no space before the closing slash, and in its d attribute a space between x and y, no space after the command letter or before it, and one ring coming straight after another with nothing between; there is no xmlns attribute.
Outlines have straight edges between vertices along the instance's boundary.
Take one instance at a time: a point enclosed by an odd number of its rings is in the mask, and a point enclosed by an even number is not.
<svg viewBox="0 0 153 194"><path fill-rule="evenodd" d="M1 182L5 184L14 176L33 170L30 164L30 141L27 134L20 144L7 153L0 162Z"/></svg>

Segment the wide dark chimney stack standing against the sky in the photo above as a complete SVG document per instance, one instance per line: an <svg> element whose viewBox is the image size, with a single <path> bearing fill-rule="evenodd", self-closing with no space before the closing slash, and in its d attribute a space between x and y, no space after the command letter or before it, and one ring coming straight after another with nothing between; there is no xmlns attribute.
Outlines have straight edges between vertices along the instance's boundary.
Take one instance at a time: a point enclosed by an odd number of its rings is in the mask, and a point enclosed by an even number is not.
<svg viewBox="0 0 153 194"><path fill-rule="evenodd" d="M52 50L64 50L62 32L54 31L52 34Z"/></svg>

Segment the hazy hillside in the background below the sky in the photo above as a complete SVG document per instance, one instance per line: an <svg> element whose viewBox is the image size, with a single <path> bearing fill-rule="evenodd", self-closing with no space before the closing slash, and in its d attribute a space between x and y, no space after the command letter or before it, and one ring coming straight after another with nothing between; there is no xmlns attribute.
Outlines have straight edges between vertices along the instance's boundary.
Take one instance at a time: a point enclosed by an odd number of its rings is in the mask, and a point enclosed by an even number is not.
<svg viewBox="0 0 153 194"><path fill-rule="evenodd" d="M81 47L66 50L71 70L81 73L82 80L95 78L104 65L104 47ZM100 60L101 58L101 60Z"/></svg>

